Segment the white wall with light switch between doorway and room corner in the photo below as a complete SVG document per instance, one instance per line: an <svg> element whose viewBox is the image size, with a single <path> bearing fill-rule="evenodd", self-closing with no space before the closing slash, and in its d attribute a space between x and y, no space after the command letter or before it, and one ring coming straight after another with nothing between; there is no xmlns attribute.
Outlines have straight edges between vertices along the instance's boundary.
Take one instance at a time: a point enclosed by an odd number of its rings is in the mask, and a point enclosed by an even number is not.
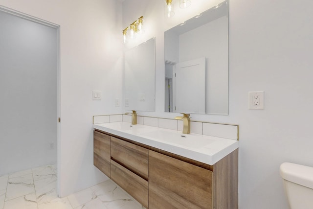
<svg viewBox="0 0 313 209"><path fill-rule="evenodd" d="M93 166L92 116L121 113L121 3L116 0L0 0L0 5L60 25L61 196L95 185L106 177ZM102 91L101 101L92 90Z"/></svg>

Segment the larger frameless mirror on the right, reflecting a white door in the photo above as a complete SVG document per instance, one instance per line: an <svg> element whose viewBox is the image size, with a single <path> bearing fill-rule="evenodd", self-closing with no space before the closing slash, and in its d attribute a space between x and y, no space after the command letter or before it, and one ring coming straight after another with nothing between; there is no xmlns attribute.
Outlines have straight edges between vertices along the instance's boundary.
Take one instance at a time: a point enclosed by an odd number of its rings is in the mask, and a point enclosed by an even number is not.
<svg viewBox="0 0 313 209"><path fill-rule="evenodd" d="M228 1L164 33L165 112L228 115Z"/></svg>

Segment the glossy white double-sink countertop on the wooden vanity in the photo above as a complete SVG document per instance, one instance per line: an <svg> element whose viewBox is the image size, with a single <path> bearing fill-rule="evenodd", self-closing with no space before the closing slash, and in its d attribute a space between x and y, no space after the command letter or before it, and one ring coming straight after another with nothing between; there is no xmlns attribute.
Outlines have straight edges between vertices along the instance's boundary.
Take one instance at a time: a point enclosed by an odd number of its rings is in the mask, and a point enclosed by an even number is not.
<svg viewBox="0 0 313 209"><path fill-rule="evenodd" d="M238 148L238 140L200 134L182 134L147 125L129 122L94 124L93 128L162 149L192 160L213 165Z"/></svg>

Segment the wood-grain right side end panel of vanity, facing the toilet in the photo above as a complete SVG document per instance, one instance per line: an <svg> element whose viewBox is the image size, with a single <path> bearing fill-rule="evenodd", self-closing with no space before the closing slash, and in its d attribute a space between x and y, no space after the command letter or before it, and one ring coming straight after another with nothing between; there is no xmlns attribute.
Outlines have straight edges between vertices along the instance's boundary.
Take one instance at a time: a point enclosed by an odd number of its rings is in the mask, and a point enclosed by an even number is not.
<svg viewBox="0 0 313 209"><path fill-rule="evenodd" d="M214 164L216 209L238 209L238 149Z"/></svg>

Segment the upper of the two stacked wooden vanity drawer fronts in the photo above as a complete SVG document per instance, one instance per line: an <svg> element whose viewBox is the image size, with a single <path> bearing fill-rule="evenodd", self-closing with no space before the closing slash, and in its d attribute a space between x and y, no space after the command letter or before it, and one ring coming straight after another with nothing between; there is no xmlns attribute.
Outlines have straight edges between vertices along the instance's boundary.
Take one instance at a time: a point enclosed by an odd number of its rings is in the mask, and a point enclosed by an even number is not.
<svg viewBox="0 0 313 209"><path fill-rule="evenodd" d="M148 149L111 137L112 160L148 180Z"/></svg>

